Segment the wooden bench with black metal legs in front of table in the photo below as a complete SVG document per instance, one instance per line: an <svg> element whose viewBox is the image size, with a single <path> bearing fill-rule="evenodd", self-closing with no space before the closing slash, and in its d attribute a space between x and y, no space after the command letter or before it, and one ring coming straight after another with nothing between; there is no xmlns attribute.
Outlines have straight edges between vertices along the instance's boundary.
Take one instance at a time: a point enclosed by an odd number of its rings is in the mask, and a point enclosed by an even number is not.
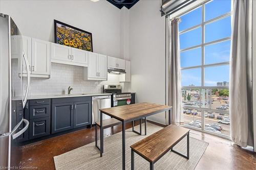
<svg viewBox="0 0 256 170"><path fill-rule="evenodd" d="M187 136L187 155L174 151L174 146ZM168 151L172 151L180 156L189 159L189 129L169 125L160 131L131 145L132 149L132 170L134 169L134 152L150 162L150 169L154 169L156 163Z"/></svg>

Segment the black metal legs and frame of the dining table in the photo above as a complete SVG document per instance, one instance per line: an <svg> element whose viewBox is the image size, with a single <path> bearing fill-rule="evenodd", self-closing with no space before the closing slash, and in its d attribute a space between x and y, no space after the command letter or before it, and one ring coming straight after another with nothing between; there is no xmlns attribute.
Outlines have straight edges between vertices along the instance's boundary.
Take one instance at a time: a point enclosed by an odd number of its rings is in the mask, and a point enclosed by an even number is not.
<svg viewBox="0 0 256 170"><path fill-rule="evenodd" d="M157 113L161 113L161 112L164 112L164 111L168 111L168 116L169 116L168 117L168 120L169 120L168 123L170 125L170 109L171 108L162 109L162 110L159 110L159 111L156 111L156 112L141 115L139 117L131 118L129 120L122 120L119 117L114 117L114 118L116 118L116 119L118 119L122 122L122 169L123 170L125 170L125 124L129 123L129 122L133 122L134 120L138 120L138 119L140 119L140 121L141 121L141 118L151 116L151 115L154 115L154 114L157 114ZM106 114L106 115L109 115L109 116L113 117L113 115L110 115L108 113L103 113L103 112L100 111L100 125L102 125L102 114ZM103 148L103 127L102 126L100 126L100 148ZM102 153L103 153L103 150L100 150L100 157L102 157Z"/></svg>

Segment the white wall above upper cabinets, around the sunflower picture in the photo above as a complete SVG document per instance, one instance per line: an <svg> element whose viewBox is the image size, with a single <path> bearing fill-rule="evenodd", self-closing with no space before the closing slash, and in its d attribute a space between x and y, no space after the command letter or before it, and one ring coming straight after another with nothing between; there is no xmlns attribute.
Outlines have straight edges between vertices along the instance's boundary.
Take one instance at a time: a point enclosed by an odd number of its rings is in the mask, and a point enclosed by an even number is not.
<svg viewBox="0 0 256 170"><path fill-rule="evenodd" d="M106 1L0 1L23 35L54 42L54 19L92 33L93 50L120 57L120 10Z"/></svg>

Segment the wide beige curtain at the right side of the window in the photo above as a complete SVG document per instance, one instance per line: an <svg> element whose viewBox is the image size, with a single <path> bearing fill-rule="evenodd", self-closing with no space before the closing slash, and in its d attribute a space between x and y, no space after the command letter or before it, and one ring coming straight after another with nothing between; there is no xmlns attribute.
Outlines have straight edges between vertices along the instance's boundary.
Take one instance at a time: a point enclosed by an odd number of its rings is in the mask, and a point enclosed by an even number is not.
<svg viewBox="0 0 256 170"><path fill-rule="evenodd" d="M233 3L229 86L231 139L247 147L253 146L250 2L234 0Z"/></svg>

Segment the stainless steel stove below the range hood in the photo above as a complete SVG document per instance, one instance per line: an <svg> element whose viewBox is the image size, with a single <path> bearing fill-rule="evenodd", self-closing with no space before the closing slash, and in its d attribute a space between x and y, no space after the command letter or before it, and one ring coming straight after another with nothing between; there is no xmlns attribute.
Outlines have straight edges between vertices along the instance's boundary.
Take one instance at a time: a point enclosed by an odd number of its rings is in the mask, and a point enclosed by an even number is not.
<svg viewBox="0 0 256 170"><path fill-rule="evenodd" d="M111 107L131 104L132 93L122 92L121 85L103 85L103 92L112 93Z"/></svg>

